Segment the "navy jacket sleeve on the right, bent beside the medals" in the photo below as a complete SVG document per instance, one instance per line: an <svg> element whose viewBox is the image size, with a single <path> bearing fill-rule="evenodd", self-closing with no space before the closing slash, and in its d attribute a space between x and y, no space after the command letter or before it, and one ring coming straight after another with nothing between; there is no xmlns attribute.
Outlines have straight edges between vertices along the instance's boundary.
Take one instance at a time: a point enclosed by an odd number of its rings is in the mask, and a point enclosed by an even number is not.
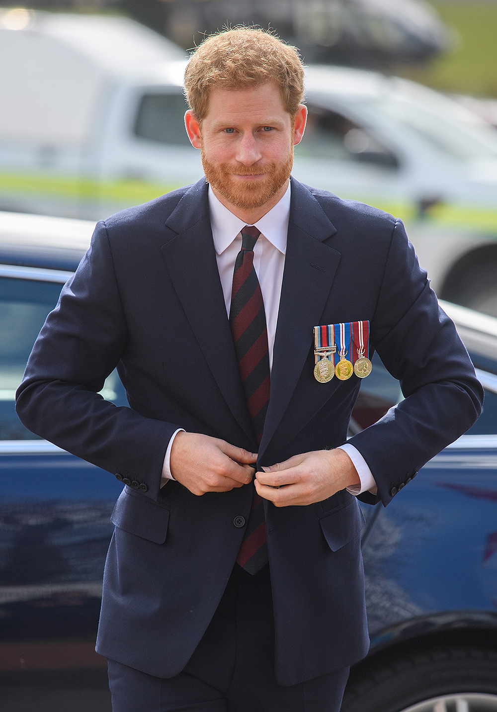
<svg viewBox="0 0 497 712"><path fill-rule="evenodd" d="M481 413L483 388L456 328L439 308L402 222L392 234L371 323L371 347L399 379L404 400L349 442L367 462L386 505L429 459Z"/></svg>

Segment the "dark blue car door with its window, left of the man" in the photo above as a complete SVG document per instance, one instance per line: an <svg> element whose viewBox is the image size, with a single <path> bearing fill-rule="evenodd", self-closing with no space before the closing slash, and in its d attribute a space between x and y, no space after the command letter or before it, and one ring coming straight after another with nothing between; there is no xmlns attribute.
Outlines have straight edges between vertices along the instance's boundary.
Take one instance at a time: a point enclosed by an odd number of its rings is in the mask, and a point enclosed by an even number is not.
<svg viewBox="0 0 497 712"><path fill-rule="evenodd" d="M33 342L68 276L58 270L0 266L3 712L31 710L40 700L46 708L64 712L110 710L106 661L94 645L105 554L113 533L110 513L122 484L33 435L14 410ZM102 394L126 404L115 373Z"/></svg>

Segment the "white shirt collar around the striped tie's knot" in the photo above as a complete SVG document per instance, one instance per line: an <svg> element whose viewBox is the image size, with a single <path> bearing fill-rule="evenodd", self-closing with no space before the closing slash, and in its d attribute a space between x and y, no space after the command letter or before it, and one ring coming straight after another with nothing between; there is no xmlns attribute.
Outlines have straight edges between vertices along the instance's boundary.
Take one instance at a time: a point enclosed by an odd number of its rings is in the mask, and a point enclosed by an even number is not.
<svg viewBox="0 0 497 712"><path fill-rule="evenodd" d="M260 220L255 223L263 236L271 242L283 255L286 253L286 240L288 236L288 220L290 219L290 194L291 187L288 183L283 197ZM236 236L245 226L243 220L234 215L214 195L209 185L209 211L211 216L212 238L214 248L220 255L231 245Z"/></svg>

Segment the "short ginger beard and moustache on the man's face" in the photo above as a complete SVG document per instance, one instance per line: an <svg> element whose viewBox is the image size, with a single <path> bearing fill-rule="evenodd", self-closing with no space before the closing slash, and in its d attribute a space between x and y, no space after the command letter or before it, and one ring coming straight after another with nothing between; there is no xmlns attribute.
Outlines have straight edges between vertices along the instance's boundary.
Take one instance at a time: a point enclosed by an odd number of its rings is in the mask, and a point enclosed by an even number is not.
<svg viewBox="0 0 497 712"><path fill-rule="evenodd" d="M293 145L288 150L288 156L281 163L265 163L246 166L243 163L231 165L229 163L214 164L209 161L204 148L202 132L200 134L200 153L202 167L206 180L219 192L231 205L236 208L250 210L260 208L278 190L283 187L290 177L293 167ZM254 181L252 184L241 184L236 180L237 175L253 176L264 174L264 179Z"/></svg>

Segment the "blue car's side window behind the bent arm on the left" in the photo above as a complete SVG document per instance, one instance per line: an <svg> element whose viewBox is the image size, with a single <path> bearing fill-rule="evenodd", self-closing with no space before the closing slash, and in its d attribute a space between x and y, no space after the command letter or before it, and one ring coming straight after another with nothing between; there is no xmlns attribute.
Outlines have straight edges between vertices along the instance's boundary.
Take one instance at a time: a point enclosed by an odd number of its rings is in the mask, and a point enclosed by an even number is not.
<svg viewBox="0 0 497 712"><path fill-rule="evenodd" d="M0 277L0 440L37 437L19 421L14 400L33 343L61 288L61 283ZM105 381L101 394L116 404L127 404L117 372Z"/></svg>

